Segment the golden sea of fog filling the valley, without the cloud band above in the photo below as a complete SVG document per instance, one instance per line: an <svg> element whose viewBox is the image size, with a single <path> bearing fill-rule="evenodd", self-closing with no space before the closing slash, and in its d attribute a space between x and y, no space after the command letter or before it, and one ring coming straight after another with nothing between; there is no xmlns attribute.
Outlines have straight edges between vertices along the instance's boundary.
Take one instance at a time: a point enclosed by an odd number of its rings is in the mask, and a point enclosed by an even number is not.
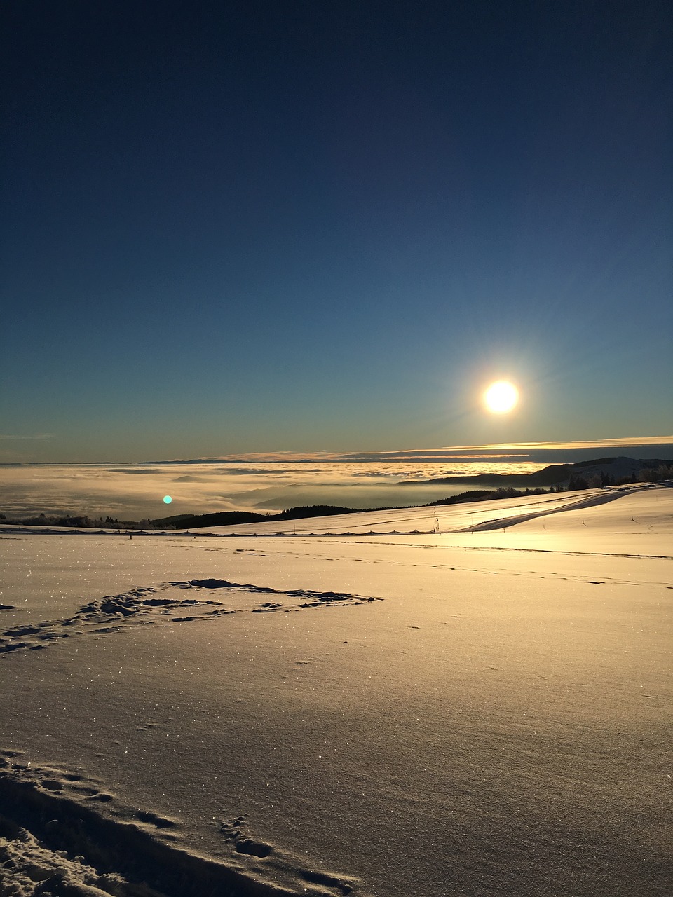
<svg viewBox="0 0 673 897"><path fill-rule="evenodd" d="M225 510L267 513L310 504L397 507L471 488L419 480L489 470L529 473L539 466L533 462L8 466L2 471L0 512L7 518L44 512L140 520ZM170 496L170 503L165 496Z"/></svg>

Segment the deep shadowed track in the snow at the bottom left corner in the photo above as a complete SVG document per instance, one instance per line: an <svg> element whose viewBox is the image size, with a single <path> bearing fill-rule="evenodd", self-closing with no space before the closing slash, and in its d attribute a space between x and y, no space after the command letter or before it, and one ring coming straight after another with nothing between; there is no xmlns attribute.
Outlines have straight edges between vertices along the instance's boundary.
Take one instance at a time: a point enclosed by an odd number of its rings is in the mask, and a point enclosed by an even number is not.
<svg viewBox="0 0 673 897"><path fill-rule="evenodd" d="M258 840L246 814L214 821L217 857L191 852L180 823L125 806L81 771L0 750L0 894L12 897L346 897L357 879L311 868Z"/></svg>

